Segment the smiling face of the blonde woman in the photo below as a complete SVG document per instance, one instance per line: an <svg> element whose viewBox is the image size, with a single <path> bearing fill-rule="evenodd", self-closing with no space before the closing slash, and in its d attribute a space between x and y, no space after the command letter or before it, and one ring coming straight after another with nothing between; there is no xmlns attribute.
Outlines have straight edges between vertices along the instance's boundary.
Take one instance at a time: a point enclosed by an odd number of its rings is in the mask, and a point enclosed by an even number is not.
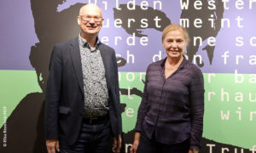
<svg viewBox="0 0 256 153"><path fill-rule="evenodd" d="M186 42L183 33L179 30L169 31L163 41L168 58L180 58L183 55L183 49L186 48Z"/></svg>

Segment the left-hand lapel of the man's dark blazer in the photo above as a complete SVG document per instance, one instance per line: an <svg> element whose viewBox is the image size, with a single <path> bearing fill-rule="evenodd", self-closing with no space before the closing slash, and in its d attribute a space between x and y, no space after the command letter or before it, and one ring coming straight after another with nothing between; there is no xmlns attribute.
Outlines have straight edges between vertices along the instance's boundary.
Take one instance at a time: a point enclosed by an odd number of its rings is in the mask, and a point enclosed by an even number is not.
<svg viewBox="0 0 256 153"><path fill-rule="evenodd" d="M79 88L81 89L81 92L84 95L84 85L83 85L84 81L83 81L83 70L82 70L81 55L80 55L80 48L79 48L79 37L73 39L73 41L70 44L69 51L72 57L73 67L79 81Z"/></svg>

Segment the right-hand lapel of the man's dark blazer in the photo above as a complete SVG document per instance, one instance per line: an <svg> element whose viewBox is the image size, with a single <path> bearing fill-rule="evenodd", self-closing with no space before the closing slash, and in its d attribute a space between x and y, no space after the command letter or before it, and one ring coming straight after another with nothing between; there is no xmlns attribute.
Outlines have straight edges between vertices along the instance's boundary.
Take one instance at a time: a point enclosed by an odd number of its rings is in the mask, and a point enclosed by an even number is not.
<svg viewBox="0 0 256 153"><path fill-rule="evenodd" d="M101 43L101 42L100 42ZM110 87L110 64L109 64L109 61L110 61L110 54L108 53L108 50L102 48L102 45L100 44L99 46L99 50L100 50L100 53L102 55L102 61L103 61L103 65L105 67L105 76L106 76L106 81L107 81L107 87L108 87L108 91L109 91L109 87Z"/></svg>

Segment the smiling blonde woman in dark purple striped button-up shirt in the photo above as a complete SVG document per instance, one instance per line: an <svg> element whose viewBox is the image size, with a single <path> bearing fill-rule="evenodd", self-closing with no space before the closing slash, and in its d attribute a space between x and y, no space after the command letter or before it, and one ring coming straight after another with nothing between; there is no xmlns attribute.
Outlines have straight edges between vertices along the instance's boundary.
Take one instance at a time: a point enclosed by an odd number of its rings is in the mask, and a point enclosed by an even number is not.
<svg viewBox="0 0 256 153"><path fill-rule="evenodd" d="M201 70L184 57L189 34L166 26L166 59L148 65L137 113L132 153L192 153L201 148L204 82Z"/></svg>

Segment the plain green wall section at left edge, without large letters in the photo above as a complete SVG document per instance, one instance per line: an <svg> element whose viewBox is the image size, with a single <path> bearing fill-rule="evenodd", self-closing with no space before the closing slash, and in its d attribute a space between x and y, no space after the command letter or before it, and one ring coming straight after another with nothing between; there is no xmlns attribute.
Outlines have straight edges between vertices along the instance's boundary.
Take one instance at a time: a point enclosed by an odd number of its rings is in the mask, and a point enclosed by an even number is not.
<svg viewBox="0 0 256 153"><path fill-rule="evenodd" d="M36 71L0 71L0 126L26 94L42 93ZM5 117L6 116L6 117Z"/></svg>

